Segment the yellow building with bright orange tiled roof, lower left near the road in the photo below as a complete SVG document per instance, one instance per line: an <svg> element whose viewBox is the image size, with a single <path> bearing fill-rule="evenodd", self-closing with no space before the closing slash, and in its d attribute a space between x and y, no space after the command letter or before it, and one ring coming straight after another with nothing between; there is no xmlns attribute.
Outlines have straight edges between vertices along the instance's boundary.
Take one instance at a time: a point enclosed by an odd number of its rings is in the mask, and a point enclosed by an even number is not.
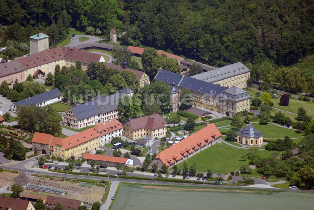
<svg viewBox="0 0 314 210"><path fill-rule="evenodd" d="M92 153L99 149L99 135L93 128L89 128L77 134L60 139L53 147L56 157L76 158L83 156L85 152Z"/></svg>

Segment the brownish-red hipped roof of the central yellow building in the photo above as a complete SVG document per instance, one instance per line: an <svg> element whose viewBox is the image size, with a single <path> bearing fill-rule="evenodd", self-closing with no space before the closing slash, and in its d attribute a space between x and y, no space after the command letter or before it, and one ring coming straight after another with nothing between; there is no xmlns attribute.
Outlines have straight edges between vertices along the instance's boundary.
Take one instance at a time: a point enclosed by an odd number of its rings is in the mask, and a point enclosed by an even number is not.
<svg viewBox="0 0 314 210"><path fill-rule="evenodd" d="M138 130L142 128L149 128L150 130L156 130L159 128L165 128L166 121L157 113L149 116L131 119L127 125L131 127L131 130Z"/></svg>

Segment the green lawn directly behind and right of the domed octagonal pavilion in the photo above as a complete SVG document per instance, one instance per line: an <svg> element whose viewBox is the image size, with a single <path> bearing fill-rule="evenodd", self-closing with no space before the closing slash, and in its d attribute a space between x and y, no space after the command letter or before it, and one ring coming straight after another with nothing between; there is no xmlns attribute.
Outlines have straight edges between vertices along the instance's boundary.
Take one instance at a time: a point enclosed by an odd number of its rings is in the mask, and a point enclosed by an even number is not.
<svg viewBox="0 0 314 210"><path fill-rule="evenodd" d="M286 135L290 138L300 138L304 133L297 133L296 130L279 127L274 124L261 125L258 123L252 124L257 130L263 133L264 138L284 138Z"/></svg>

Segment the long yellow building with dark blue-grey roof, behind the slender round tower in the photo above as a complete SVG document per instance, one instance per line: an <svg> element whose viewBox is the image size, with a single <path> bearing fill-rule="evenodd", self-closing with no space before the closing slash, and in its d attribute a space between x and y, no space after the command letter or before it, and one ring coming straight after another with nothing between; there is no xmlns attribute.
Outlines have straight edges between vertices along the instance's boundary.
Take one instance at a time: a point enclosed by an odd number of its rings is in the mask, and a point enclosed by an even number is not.
<svg viewBox="0 0 314 210"><path fill-rule="evenodd" d="M215 111L230 117L243 110L250 110L250 95L237 86L219 86L205 80L176 74L164 69L159 70L155 80L160 80L172 87L174 83L179 92L191 91L193 106Z"/></svg>

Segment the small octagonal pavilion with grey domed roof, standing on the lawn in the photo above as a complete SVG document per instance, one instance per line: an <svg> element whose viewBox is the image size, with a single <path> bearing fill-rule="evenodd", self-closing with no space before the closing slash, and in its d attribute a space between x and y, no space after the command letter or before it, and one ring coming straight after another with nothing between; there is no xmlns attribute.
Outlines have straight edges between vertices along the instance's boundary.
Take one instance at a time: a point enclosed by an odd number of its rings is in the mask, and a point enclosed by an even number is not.
<svg viewBox="0 0 314 210"><path fill-rule="evenodd" d="M249 124L238 131L237 142L243 145L260 146L263 144L263 134Z"/></svg>

